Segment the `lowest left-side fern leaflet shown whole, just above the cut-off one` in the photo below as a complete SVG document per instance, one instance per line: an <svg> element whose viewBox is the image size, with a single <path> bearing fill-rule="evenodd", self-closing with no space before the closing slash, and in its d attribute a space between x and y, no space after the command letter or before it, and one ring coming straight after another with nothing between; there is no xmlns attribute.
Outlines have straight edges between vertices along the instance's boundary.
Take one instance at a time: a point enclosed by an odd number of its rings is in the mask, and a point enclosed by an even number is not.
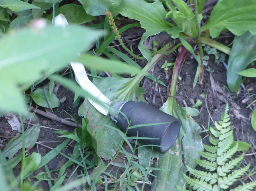
<svg viewBox="0 0 256 191"><path fill-rule="evenodd" d="M191 173L192 175L194 175L194 177L204 180L204 181L210 181L210 184L214 184L217 182L217 173L210 173L210 172L204 172L204 171L200 171L200 170L196 170L196 169L192 169L191 167L187 166L187 169L189 171L189 173Z"/></svg>

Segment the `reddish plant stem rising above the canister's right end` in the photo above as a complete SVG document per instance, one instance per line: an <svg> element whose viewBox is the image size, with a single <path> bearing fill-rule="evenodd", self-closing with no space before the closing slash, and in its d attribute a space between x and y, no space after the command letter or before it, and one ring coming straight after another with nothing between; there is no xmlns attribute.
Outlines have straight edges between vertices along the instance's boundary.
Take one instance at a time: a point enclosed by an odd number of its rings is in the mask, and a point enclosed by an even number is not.
<svg viewBox="0 0 256 191"><path fill-rule="evenodd" d="M170 87L169 96L172 96L172 97L175 96L179 73L180 73L181 67L187 57L187 54L188 54L188 50L185 47L180 46L179 53L177 55L175 65L173 68L172 77L171 77L171 87Z"/></svg>

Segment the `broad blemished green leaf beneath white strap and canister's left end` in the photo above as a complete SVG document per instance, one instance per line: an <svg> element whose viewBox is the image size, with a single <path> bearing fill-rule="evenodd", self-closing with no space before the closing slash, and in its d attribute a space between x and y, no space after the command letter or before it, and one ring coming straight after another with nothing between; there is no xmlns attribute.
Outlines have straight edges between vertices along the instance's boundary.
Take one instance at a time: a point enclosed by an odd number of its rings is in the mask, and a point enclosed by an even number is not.
<svg viewBox="0 0 256 191"><path fill-rule="evenodd" d="M119 76L113 76L110 78L93 79L93 83L102 93L104 93L105 96L107 96L107 98L109 98L111 104L115 104L115 102L123 100L145 102L142 96L142 94L145 93L145 90L143 87L139 87L139 78L134 77L127 79ZM92 145L95 150L97 149L98 155L105 160L112 158L112 156L117 152L118 146L113 144L111 136L103 127L104 125L116 127L115 122L113 122L109 116L104 116L98 112L88 100L85 100L85 102L80 106L79 114L83 114L89 119L87 130L96 140ZM122 138L119 134L115 133L115 131L110 128L108 128L108 130L117 142L121 142Z"/></svg>

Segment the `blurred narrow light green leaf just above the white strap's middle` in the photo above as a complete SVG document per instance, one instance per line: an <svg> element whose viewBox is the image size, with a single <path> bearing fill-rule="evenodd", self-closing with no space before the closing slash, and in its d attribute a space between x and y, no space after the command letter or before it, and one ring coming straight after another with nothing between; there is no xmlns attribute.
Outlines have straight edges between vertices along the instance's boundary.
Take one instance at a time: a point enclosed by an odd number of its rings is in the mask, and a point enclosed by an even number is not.
<svg viewBox="0 0 256 191"><path fill-rule="evenodd" d="M138 67L130 66L122 63L121 61L113 61L89 54L81 55L81 57L77 59L77 62L82 63L85 67L96 69L97 71L107 71L117 74L132 74L141 72Z"/></svg>

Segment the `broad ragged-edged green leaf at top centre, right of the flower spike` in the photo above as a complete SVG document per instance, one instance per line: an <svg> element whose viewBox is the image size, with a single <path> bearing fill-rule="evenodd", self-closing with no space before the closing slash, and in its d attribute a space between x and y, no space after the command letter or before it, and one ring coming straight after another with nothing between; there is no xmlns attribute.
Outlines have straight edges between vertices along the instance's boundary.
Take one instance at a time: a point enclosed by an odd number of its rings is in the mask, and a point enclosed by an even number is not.
<svg viewBox="0 0 256 191"><path fill-rule="evenodd" d="M111 8L113 8L113 10L118 10L118 13L125 17L138 20L141 27L146 30L141 37L138 48L149 62L151 61L151 53L143 45L143 42L147 37L163 31L171 34L171 37L177 38L179 32L181 32L181 29L169 28L165 20L165 8L159 1L148 3L144 0L118 0L111 5Z"/></svg>

